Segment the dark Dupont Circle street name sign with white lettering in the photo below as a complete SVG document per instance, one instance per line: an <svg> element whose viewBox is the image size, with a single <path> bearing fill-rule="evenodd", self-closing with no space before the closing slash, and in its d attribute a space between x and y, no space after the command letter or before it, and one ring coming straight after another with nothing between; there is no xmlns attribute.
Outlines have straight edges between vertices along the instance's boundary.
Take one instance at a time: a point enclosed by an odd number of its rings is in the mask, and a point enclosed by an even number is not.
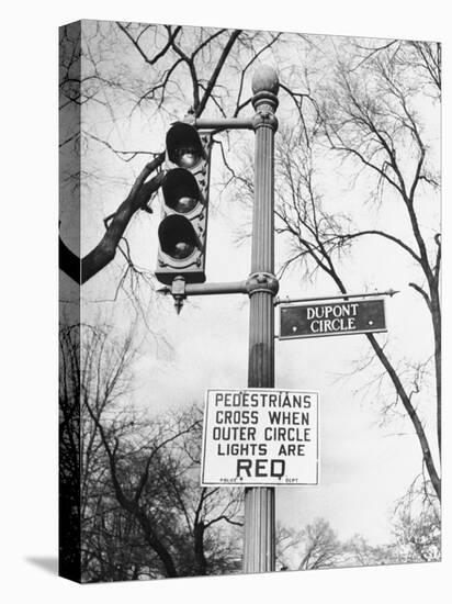
<svg viewBox="0 0 452 604"><path fill-rule="evenodd" d="M342 300L280 307L280 339L386 332L384 300Z"/></svg>

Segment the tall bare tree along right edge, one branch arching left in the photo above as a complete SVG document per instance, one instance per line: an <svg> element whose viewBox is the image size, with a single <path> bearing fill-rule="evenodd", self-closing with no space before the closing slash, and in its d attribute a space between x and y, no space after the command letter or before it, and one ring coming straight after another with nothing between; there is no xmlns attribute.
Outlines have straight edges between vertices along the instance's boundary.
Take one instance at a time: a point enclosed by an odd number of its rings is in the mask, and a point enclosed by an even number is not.
<svg viewBox="0 0 452 604"><path fill-rule="evenodd" d="M439 187L439 175L429 158L430 144L425 136L419 86L421 93L432 90L438 93L440 79L432 75L431 80L422 86L418 75L419 69L431 72L428 57L433 56L434 46L438 45L414 45L416 54L421 57L422 48L430 51L423 64L419 64L414 60L413 45L398 43L394 51L380 51L369 58L364 74L340 61L335 87L321 108L321 120L330 148L357 160L368 172L373 174L380 197L386 194L388 189L387 194L394 194L405 208L413 243L402 241L391 232L372 228L338 234L338 238L350 241L366 235L384 237L408 254L420 269L426 286L422 282L411 282L409 286L422 297L431 316L437 378L437 435L441 450L441 235L437 232L431 237L429 231L422 230L422 208L418 200L421 186L432 189L430 195L433 199L434 190ZM439 63L434 72L440 74ZM377 348L374 349L378 355ZM384 362L383 357L381 360ZM417 430L421 438L420 430ZM426 463L430 467L432 482L437 482L433 467L427 459Z"/></svg>

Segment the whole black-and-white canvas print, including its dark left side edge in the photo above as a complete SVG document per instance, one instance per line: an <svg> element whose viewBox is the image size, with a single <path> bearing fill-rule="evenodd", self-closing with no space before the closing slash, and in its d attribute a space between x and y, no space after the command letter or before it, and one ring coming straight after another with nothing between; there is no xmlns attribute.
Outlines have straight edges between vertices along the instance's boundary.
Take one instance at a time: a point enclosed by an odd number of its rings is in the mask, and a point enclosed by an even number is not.
<svg viewBox="0 0 452 604"><path fill-rule="evenodd" d="M59 52L61 574L439 561L441 44Z"/></svg>

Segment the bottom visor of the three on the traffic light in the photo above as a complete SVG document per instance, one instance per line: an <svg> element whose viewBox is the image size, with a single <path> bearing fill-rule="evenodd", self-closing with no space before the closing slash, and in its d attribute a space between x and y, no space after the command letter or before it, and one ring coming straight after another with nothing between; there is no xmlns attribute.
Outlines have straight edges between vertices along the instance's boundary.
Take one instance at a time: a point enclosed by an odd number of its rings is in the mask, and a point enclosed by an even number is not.
<svg viewBox="0 0 452 604"><path fill-rule="evenodd" d="M161 250L176 260L184 260L201 246L191 222L179 214L163 219L158 237Z"/></svg>

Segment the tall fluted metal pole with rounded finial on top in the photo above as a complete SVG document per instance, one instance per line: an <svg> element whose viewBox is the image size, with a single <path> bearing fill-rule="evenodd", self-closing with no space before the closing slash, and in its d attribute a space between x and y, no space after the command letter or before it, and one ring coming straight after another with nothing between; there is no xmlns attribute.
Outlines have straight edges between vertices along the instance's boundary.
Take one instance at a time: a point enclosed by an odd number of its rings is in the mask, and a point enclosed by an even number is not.
<svg viewBox="0 0 452 604"><path fill-rule="evenodd" d="M274 305L278 291L274 277L274 166L273 139L278 128L279 80L272 67L263 66L252 79L256 110L255 206L252 217L251 273L264 273L262 287L250 291L248 385L274 387ZM270 286L270 281L272 287ZM267 284L269 283L269 284ZM276 287L274 284L276 283ZM274 570L275 560L274 488L247 488L245 491L244 571Z"/></svg>

